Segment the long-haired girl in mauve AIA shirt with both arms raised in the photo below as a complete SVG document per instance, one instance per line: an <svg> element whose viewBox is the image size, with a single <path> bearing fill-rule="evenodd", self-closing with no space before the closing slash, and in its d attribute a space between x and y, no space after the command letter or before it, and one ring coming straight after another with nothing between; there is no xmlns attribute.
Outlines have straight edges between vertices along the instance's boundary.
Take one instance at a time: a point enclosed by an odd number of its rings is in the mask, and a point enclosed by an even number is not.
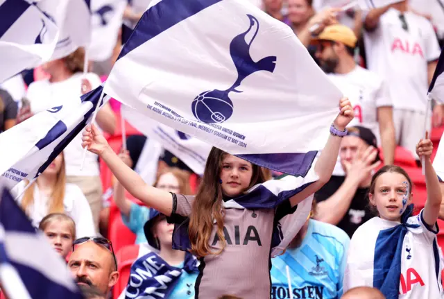
<svg viewBox="0 0 444 299"><path fill-rule="evenodd" d="M339 108L327 144L316 164L309 162L305 177L265 182L259 166L212 148L196 196L146 185L94 125L87 126L82 145L100 155L130 194L176 224L173 248L200 259L196 298L268 298L271 256L282 252L305 223L312 194L330 179L341 136L354 117L348 99L341 99Z"/></svg>

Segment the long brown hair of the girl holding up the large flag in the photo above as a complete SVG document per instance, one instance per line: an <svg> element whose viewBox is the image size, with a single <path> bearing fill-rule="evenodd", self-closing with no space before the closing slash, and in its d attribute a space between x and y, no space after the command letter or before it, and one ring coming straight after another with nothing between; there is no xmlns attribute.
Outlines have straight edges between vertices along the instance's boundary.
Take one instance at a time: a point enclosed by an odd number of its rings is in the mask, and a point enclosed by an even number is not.
<svg viewBox="0 0 444 299"><path fill-rule="evenodd" d="M222 188L219 183L224 151L212 148L207 158L203 178L191 207L188 234L191 242L191 253L197 257L206 255L219 255L225 248L225 236L223 234L223 199ZM252 164L253 176L246 190L256 184L265 182L264 172L261 167ZM213 230L213 219L216 221L216 234L223 244L215 253L210 249L210 237Z"/></svg>

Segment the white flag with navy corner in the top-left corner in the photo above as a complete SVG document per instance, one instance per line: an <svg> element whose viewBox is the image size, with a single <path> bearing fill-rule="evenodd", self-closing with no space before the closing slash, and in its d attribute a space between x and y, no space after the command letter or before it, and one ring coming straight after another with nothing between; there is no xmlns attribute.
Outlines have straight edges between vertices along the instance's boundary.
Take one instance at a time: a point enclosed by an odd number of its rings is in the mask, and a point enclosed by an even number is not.
<svg viewBox="0 0 444 299"><path fill-rule="evenodd" d="M35 4L0 0L0 83L49 60L58 37L56 24Z"/></svg>

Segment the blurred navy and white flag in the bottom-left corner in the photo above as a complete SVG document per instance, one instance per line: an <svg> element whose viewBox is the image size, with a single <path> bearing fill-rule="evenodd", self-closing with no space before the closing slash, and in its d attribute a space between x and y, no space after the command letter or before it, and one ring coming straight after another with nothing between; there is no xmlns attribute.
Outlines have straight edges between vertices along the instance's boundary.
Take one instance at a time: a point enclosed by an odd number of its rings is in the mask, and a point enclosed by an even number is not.
<svg viewBox="0 0 444 299"><path fill-rule="evenodd" d="M0 281L10 299L83 296L63 259L31 225L8 189L0 188Z"/></svg>

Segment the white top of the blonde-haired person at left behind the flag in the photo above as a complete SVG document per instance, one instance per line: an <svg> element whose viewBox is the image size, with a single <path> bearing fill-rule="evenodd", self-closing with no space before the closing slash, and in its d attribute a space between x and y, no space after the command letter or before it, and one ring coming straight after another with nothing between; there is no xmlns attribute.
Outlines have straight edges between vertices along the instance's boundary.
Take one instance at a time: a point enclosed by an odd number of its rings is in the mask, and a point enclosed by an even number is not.
<svg viewBox="0 0 444 299"><path fill-rule="evenodd" d="M12 194L19 196L26 187L26 182L22 180L13 189ZM22 203L22 197L18 199L19 204ZM67 184L65 187L65 198L63 198L65 213L76 223L76 237L95 236L94 221L92 220L92 212L89 203L82 190L77 185ZM48 214L48 198L40 194L37 183L34 183L34 203L28 206L26 211L31 218L33 225L38 228L40 221Z"/></svg>

